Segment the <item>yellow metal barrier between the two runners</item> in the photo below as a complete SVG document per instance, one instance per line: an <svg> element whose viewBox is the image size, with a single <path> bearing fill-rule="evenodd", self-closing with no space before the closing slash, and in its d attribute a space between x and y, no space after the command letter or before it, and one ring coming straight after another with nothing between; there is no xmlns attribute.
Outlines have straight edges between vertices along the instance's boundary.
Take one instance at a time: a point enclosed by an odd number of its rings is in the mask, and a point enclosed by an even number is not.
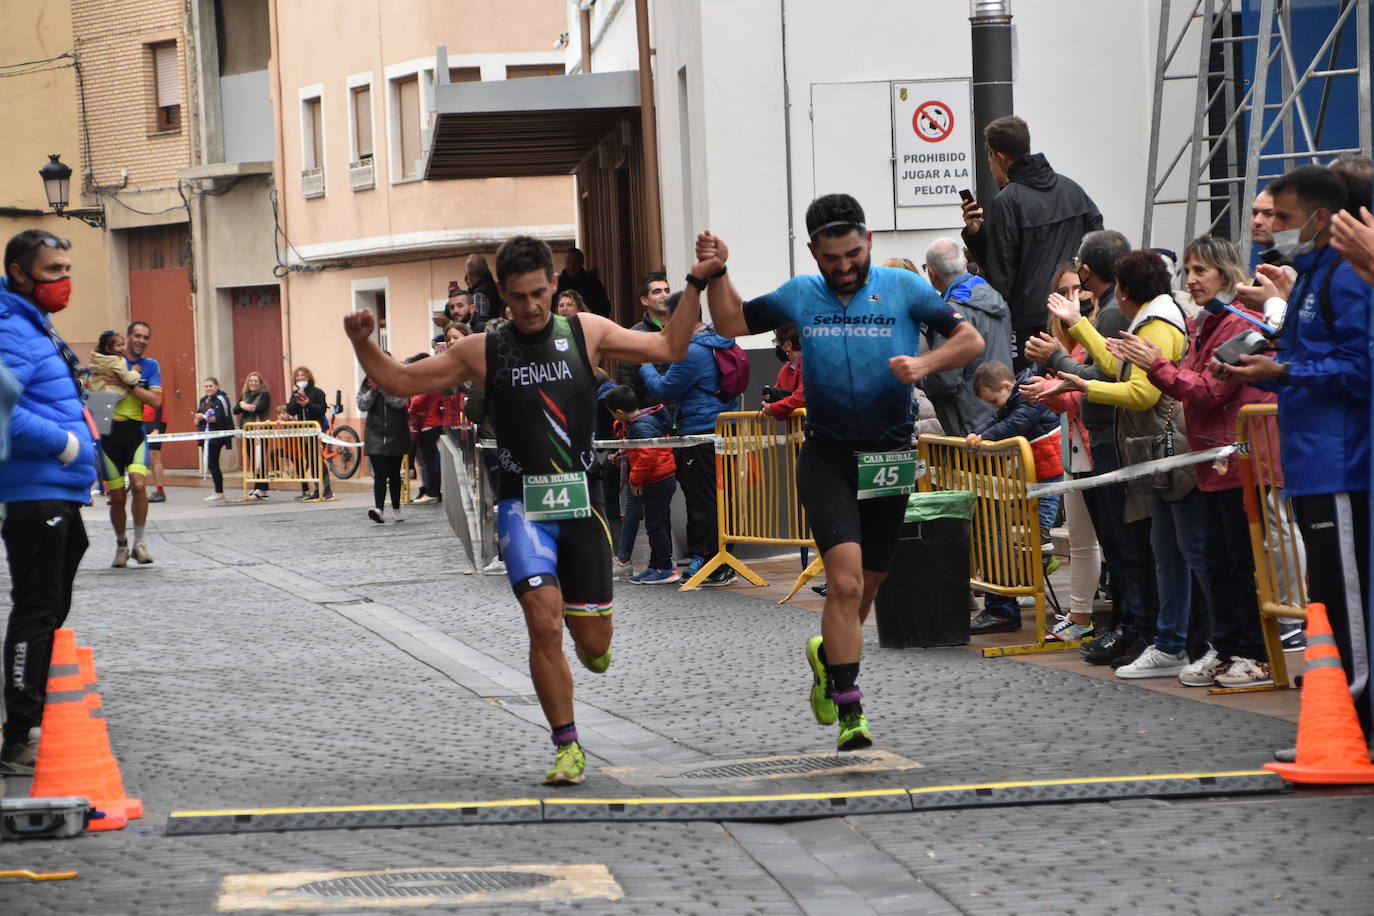
<svg viewBox="0 0 1374 916"><path fill-rule="evenodd" d="M797 497L797 453L804 441L805 420L805 411L794 411L785 420L753 411L716 417L716 435L720 437L716 445L717 552L683 582L682 591L697 588L721 566L730 566L754 585L767 585L763 577L730 552L731 544L815 549L816 542L811 538ZM818 556L797 578L791 595L819 570Z"/></svg>

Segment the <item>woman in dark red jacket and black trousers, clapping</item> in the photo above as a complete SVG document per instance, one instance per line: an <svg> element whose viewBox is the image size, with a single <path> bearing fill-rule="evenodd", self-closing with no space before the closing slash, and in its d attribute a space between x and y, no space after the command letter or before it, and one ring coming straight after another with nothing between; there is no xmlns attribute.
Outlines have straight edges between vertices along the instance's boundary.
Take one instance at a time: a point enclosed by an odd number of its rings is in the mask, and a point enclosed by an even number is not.
<svg viewBox="0 0 1374 916"><path fill-rule="evenodd" d="M1183 269L1193 301L1202 306L1178 364L1160 349L1132 334L1107 341L1107 350L1149 374L1165 394L1183 401L1189 448L1204 450L1235 442L1241 408L1270 404L1274 396L1249 385L1215 378L1209 369L1217 347L1254 325L1227 312L1235 305L1254 319L1261 316L1235 302L1235 287L1246 282L1239 255L1226 239L1201 238L1183 253ZM1186 687L1260 687L1272 684L1268 654L1260 633L1254 592L1254 558L1241 492L1241 471L1232 455L1226 463L1197 466L1206 531L1206 575L1212 584L1212 647L1179 674Z"/></svg>

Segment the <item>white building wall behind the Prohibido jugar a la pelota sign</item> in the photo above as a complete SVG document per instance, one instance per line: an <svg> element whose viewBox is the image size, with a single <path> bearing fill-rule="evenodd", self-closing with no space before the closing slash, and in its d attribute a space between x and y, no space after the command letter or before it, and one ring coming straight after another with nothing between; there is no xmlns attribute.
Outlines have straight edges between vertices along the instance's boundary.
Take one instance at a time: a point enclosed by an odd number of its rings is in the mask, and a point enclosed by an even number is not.
<svg viewBox="0 0 1374 916"><path fill-rule="evenodd" d="M632 0L599 0L592 10L594 34L616 14L594 55L594 70L635 69ZM958 235L963 224L955 206L893 210L883 84L971 78L969 4L658 0L651 10L669 277L686 272L691 236L705 228L731 244L731 275L746 295L815 269L805 210L818 194L849 190L841 187L845 169L852 187L867 188L860 196L866 209L875 216L886 211L886 224L896 227L874 233L875 258L919 264L930 242ZM1013 3L1015 114L1030 125L1033 150L1081 184L1106 225L1132 244L1142 243L1158 16L1158 0ZM1186 58L1195 60L1195 29L1179 54L1175 73L1187 70ZM851 124L813 128L818 87L831 98L849 98L840 84L864 82L874 85L851 93L856 99ZM1178 114L1164 125L1161 165L1189 135L1193 92L1191 81L1169 85ZM874 93L882 96L877 103ZM974 125L973 157L984 155L981 126ZM824 187L818 187L818 163ZM1183 177L1186 163L1169 187L1182 192ZM973 187L973 180L962 187ZM1182 207L1157 211L1151 243L1182 246Z"/></svg>

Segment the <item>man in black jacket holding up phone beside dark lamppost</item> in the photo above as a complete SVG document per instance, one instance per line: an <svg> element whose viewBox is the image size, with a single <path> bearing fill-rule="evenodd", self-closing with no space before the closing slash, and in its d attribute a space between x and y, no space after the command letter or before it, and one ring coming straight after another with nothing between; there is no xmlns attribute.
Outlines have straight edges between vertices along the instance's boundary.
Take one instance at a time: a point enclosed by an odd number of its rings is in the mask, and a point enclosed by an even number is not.
<svg viewBox="0 0 1374 916"><path fill-rule="evenodd" d="M1002 191L987 213L977 201L963 205L963 242L1011 306L1021 371L1029 365L1021 353L1026 338L1044 330L1054 266L1073 257L1084 233L1102 228L1102 214L1077 183L1030 152L1030 129L1021 118L992 121L982 139Z"/></svg>

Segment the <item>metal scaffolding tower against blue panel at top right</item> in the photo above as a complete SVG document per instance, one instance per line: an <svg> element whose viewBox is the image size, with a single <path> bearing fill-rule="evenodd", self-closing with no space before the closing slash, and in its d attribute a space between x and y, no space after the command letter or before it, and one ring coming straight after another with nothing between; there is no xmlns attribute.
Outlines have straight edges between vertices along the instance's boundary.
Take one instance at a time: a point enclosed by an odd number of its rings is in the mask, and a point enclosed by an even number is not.
<svg viewBox="0 0 1374 916"><path fill-rule="evenodd" d="M1256 34L1238 34L1241 0L1191 0L1191 12L1175 21L1173 7L1160 0L1160 34L1154 66L1154 106L1150 121L1150 152L1146 166L1143 244L1150 244L1156 209L1186 207L1183 236L1219 233L1232 239L1241 257L1249 258L1249 202L1264 179L1307 162L1323 163L1341 152L1370 155L1370 0L1340 0L1334 22L1311 60L1298 62L1294 52L1293 0L1260 0ZM1308 4L1309 5L1309 4ZM1331 0L1331 7L1337 0ZM1191 73L1171 69L1189 34L1198 40ZM1353 38L1356 65L1337 67L1341 45ZM1253 80L1242 85L1245 55L1253 55ZM1270 99L1270 67L1279 67L1281 91ZM1358 99L1358 147L1322 146L1323 129L1336 113L1327 106L1334 80L1353 77ZM1160 135L1171 114L1165 85L1193 80L1191 132L1161 172ZM1322 81L1322 102L1315 117L1308 111L1304 89ZM1243 89L1243 92L1242 92ZM1246 117L1253 115L1259 117ZM1182 113L1179 113L1182 114ZM1264 152L1282 132L1282 152ZM1187 184L1183 195L1169 196L1165 185L1187 157ZM1279 163L1267 170L1268 163ZM1198 231L1200 205L1209 218Z"/></svg>

